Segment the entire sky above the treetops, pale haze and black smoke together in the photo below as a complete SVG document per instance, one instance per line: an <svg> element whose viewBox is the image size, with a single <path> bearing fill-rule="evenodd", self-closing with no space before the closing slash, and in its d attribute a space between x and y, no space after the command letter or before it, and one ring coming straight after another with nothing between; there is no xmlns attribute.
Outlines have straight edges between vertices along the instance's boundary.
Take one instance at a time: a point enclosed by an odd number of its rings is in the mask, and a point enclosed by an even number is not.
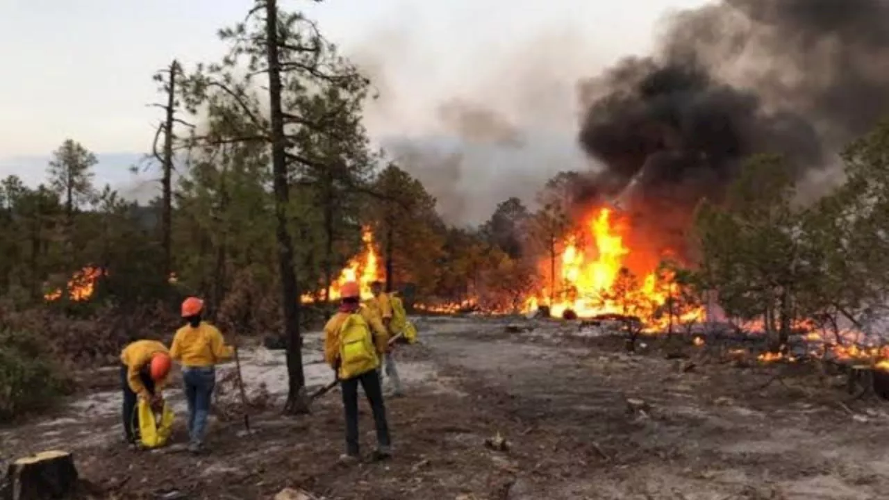
<svg viewBox="0 0 889 500"><path fill-rule="evenodd" d="M636 177L625 198L678 186L689 204L749 152L829 163L889 99L885 0L281 2L370 74L373 138L455 223L531 201L565 169L604 170L614 191ZM15 77L0 81L0 175L38 181L73 137L100 153L100 178L148 185L125 158L148 149L152 72L218 58L215 30L250 4L0 4L0 42L16 47L4 54Z"/></svg>

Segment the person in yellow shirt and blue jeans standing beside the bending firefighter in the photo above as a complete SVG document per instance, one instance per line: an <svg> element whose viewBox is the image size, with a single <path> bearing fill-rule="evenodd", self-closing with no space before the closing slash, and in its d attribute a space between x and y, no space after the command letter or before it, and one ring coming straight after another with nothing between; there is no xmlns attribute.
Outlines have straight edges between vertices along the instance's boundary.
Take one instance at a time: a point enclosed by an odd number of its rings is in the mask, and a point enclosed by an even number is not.
<svg viewBox="0 0 889 500"><path fill-rule="evenodd" d="M210 400L216 385L216 365L231 359L234 350L225 345L220 331L202 318L204 301L188 297L182 302L181 327L172 339L170 356L182 365L182 381L188 400L188 451L198 453L204 448L204 432Z"/></svg>

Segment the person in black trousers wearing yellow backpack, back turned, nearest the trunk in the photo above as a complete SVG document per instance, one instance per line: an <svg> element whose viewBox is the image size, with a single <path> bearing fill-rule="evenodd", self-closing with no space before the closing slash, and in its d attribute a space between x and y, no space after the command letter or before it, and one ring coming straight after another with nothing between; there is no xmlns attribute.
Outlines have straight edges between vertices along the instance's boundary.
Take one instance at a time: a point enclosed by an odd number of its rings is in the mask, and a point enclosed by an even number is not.
<svg viewBox="0 0 889 500"><path fill-rule="evenodd" d="M386 328L372 310L360 302L361 289L354 281L340 290L340 310L324 326L324 359L336 371L346 414L346 453L342 464L354 464L360 458L358 446L358 384L371 404L377 427L374 459L391 456L386 406L380 385L380 356L386 351Z"/></svg>

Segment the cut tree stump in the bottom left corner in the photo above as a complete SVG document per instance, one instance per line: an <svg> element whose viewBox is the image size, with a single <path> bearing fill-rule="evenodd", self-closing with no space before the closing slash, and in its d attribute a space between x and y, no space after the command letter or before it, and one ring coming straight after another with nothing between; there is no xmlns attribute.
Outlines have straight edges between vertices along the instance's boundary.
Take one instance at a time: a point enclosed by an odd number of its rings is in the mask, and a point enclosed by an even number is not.
<svg viewBox="0 0 889 500"><path fill-rule="evenodd" d="M44 451L9 465L3 500L64 498L77 484L74 456L66 451Z"/></svg>

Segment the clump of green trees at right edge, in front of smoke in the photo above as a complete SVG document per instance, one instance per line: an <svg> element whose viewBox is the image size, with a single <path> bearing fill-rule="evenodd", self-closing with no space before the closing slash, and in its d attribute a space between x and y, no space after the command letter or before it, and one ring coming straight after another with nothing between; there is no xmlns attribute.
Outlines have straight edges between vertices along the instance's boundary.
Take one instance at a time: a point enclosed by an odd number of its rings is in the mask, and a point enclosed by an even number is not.
<svg viewBox="0 0 889 500"><path fill-rule="evenodd" d="M786 343L800 319L853 322L889 290L889 124L843 155L845 182L811 206L794 206L790 169L757 157L725 204L704 203L695 236L700 267L685 278L713 290L726 312L765 319Z"/></svg>

